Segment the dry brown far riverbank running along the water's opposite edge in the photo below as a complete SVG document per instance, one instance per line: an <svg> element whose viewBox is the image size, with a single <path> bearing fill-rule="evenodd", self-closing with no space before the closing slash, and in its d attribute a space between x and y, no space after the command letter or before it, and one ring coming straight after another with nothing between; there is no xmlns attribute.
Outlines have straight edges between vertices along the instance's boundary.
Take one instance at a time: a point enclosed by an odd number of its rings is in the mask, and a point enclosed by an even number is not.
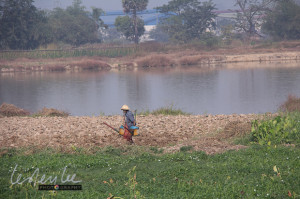
<svg viewBox="0 0 300 199"><path fill-rule="evenodd" d="M0 72L83 71L145 67L216 66L227 63L273 63L300 61L300 44L293 48L237 47L199 50L173 49L136 52L120 57L84 56L66 58L17 58L0 60Z"/></svg>

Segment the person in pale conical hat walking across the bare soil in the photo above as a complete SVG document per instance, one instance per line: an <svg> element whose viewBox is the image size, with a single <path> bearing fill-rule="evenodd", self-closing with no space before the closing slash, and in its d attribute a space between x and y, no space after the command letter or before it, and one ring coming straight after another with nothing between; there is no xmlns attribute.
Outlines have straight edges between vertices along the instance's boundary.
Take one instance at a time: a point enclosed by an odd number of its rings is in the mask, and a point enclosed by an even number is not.
<svg viewBox="0 0 300 199"><path fill-rule="evenodd" d="M130 111L129 107L124 104L121 107L121 110L123 111L123 115L124 115L124 120L125 120L125 132L124 132L124 138L130 142L130 144L133 144L133 140L132 140L132 134L133 131L130 130L130 127L135 125L135 120L134 120L134 115L133 113Z"/></svg>

